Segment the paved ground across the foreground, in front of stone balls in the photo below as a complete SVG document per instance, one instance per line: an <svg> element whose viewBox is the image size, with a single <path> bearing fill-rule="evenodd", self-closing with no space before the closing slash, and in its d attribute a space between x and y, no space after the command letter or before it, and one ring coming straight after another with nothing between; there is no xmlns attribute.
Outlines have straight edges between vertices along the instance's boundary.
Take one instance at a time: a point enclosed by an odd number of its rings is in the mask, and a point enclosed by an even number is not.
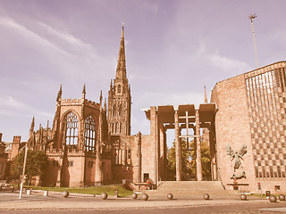
<svg viewBox="0 0 286 214"><path fill-rule="evenodd" d="M180 197L178 197L180 198ZM172 201L152 195L143 201L130 197L115 198L109 196L102 200L100 195L71 193L63 198L61 193L33 192L31 195L0 192L0 213L286 213L286 202L269 202L266 199L248 196L248 201L240 197L215 198L203 200L198 195L187 199Z"/></svg>

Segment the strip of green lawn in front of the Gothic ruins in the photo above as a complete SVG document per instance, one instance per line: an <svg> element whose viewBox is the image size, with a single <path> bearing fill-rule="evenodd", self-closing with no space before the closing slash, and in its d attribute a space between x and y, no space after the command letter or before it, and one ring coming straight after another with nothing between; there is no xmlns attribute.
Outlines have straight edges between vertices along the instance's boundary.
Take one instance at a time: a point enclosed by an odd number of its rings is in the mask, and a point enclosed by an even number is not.
<svg viewBox="0 0 286 214"><path fill-rule="evenodd" d="M114 195L114 191L118 190L118 196L126 196L133 193L130 190L125 189L122 185L102 185L102 186L91 186L87 188L76 188L76 187L44 187L44 186L34 186L25 185L25 188L32 188L34 190L48 190L55 192L68 191L70 193L88 193L88 194L101 194L107 193L109 195Z"/></svg>

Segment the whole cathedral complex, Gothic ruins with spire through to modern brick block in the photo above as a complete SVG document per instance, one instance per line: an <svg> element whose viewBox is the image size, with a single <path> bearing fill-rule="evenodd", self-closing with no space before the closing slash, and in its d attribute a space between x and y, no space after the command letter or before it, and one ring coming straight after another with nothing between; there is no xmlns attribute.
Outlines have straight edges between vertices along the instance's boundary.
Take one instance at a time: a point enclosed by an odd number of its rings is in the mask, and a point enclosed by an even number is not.
<svg viewBox="0 0 286 214"><path fill-rule="evenodd" d="M210 103L151 106L144 109L150 135L130 135L131 92L126 73L124 32L108 103L56 99L53 127L29 130L29 149L49 157L45 185L85 186L142 183L167 177L166 130L175 130L176 180L184 180L181 139L194 142L197 181L203 180L201 149L210 148L212 180L226 189L241 185L286 192L286 62L276 62L216 83ZM188 103L188 101L186 101ZM18 137L19 138L19 137ZM12 145L11 158L21 141ZM192 181L196 182L196 181ZM242 188L241 187L241 188Z"/></svg>

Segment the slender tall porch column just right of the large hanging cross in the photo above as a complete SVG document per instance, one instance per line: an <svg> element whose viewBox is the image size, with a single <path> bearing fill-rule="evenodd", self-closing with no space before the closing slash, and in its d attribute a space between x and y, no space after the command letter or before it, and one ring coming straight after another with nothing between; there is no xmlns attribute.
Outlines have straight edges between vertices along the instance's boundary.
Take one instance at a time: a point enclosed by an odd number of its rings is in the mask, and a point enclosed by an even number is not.
<svg viewBox="0 0 286 214"><path fill-rule="evenodd" d="M201 157L201 151L200 151L200 128L199 128L199 114L198 110L196 110L196 138L197 138L197 180L202 180L202 157Z"/></svg>

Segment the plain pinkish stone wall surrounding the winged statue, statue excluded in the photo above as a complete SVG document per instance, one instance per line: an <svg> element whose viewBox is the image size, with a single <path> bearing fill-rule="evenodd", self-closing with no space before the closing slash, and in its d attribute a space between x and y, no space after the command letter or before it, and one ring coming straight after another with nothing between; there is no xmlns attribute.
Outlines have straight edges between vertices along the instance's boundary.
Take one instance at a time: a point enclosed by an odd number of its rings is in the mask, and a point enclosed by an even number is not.
<svg viewBox="0 0 286 214"><path fill-rule="evenodd" d="M218 111L215 115L215 135L218 178L224 186L233 183L234 161L227 154L227 145L233 152L240 152L243 144L247 145L247 153L240 159L246 178L239 183L249 184L248 190L256 192L256 177L251 144L251 133L248 117L248 103L244 75L218 82L212 91L212 103L216 103ZM240 174L242 169L235 173ZM230 185L229 185L230 186Z"/></svg>

